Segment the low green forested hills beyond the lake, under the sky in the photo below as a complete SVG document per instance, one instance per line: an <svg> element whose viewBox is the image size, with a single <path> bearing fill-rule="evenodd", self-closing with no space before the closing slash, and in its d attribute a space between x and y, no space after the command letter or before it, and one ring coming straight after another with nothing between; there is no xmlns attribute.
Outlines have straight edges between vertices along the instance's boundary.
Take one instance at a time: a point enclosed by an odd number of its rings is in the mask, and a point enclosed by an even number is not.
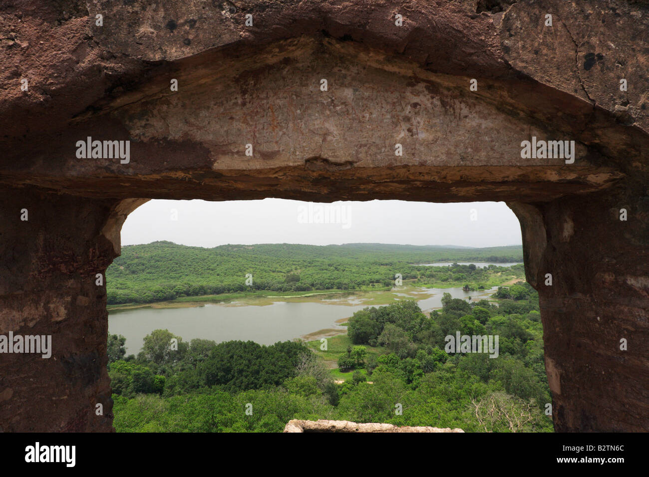
<svg viewBox="0 0 649 477"><path fill-rule="evenodd" d="M437 245L221 245L187 247L169 241L125 245L106 271L108 303L154 302L178 296L247 289L306 291L389 284L395 273L418 278L428 267L413 263L522 262L522 247ZM245 285L252 274L252 287Z"/></svg>

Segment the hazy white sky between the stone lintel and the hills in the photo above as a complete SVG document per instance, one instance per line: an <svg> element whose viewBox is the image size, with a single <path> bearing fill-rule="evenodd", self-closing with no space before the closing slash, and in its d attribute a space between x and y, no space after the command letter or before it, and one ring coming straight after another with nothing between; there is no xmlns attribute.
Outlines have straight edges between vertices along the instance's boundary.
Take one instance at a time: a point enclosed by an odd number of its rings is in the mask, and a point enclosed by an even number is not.
<svg viewBox="0 0 649 477"><path fill-rule="evenodd" d="M149 201L132 212L123 245L169 240L227 243L402 243L496 247L520 245L519 221L504 202L369 201L311 204L262 201Z"/></svg>

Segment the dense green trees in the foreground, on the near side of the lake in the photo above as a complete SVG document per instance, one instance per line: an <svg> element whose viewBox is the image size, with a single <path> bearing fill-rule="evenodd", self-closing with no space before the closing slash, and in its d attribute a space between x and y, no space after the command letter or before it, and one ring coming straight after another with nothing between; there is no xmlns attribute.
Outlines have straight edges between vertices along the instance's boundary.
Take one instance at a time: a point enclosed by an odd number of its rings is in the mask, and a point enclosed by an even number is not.
<svg viewBox="0 0 649 477"><path fill-rule="evenodd" d="M301 271L291 268L299 260L287 257L273 273ZM124 338L112 335L114 426L118 432L281 432L291 419L341 419L552 432L538 295L519 282L499 287L493 299L467 302L445 293L443 308L430 313L414 300L367 307L349 319L347 335L331 337L324 349L320 340L187 343L155 330L138 356L125 356ZM445 337L458 331L497 335L498 358L445 351Z"/></svg>

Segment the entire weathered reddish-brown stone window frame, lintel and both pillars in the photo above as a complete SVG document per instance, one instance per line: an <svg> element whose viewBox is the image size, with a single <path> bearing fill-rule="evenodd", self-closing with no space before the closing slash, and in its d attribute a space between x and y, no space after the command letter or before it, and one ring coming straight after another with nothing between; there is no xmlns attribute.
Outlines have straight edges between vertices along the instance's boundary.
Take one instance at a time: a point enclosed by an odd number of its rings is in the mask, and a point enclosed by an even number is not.
<svg viewBox="0 0 649 477"><path fill-rule="evenodd" d="M131 210L283 197L508 202L556 430L649 430L648 22L624 0L3 3L0 334L54 351L0 355L0 428L112 430L95 274ZM89 136L129 162L77 157ZM532 136L574 163L521 158Z"/></svg>

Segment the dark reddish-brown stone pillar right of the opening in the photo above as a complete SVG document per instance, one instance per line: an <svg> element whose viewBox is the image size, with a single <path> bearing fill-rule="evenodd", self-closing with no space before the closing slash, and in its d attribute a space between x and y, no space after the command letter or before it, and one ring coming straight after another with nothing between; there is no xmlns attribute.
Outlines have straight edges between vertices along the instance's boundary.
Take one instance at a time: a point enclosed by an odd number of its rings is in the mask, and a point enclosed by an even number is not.
<svg viewBox="0 0 649 477"><path fill-rule="evenodd" d="M539 206L547 245L535 278L556 430L649 430L647 193ZM620 221L622 208L627 221Z"/></svg>

